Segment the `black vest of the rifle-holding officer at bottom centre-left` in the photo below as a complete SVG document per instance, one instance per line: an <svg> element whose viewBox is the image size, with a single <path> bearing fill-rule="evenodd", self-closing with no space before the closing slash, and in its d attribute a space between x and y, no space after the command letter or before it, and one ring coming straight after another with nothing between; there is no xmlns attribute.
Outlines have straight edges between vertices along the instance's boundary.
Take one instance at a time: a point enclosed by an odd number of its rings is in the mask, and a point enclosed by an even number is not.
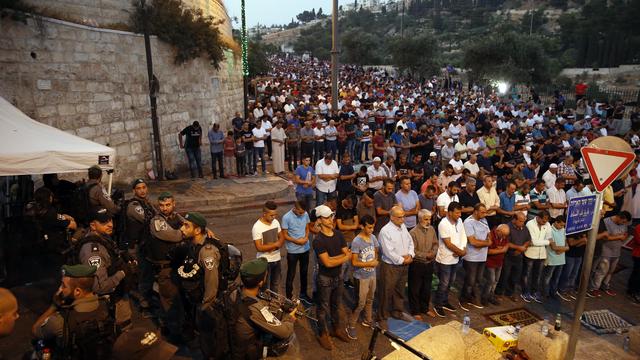
<svg viewBox="0 0 640 360"><path fill-rule="evenodd" d="M240 292L240 290L238 290ZM249 307L258 300L246 296L241 296L236 303L236 323L233 337L233 359L259 359L262 357L262 339L259 336L261 330L251 321L251 310Z"/></svg>

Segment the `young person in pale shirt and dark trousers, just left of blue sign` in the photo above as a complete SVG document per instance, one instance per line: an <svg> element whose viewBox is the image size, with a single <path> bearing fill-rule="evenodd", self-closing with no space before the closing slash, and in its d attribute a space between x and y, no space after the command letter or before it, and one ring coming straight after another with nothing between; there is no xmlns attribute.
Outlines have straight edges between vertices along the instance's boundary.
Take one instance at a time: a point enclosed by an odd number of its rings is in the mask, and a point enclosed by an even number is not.
<svg viewBox="0 0 640 360"><path fill-rule="evenodd" d="M565 264L564 253L569 251L567 237L565 235L565 217L560 215L553 220L551 226L551 236L553 240L547 246L547 260L544 268L544 291L548 297L558 299L558 285L560 275Z"/></svg>

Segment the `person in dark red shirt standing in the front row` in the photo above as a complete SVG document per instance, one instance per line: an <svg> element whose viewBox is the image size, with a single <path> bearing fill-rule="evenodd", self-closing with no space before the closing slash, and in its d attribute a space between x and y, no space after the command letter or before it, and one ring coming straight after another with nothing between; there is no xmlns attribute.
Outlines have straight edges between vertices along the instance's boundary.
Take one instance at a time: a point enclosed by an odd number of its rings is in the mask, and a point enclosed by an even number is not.
<svg viewBox="0 0 640 360"><path fill-rule="evenodd" d="M520 214L523 216L523 214ZM484 287L482 289L482 305L489 303L500 305L495 290L500 280L504 257L509 250L509 225L500 224L490 233L491 245L487 252L487 262L484 270Z"/></svg>

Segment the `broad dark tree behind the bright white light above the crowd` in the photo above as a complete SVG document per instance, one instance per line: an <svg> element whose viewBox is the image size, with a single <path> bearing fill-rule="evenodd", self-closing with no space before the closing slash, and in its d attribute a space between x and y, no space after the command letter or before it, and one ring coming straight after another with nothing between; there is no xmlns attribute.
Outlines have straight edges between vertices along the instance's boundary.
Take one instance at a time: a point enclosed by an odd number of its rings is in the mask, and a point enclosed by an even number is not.
<svg viewBox="0 0 640 360"><path fill-rule="evenodd" d="M540 84L553 75L542 38L513 31L473 39L465 48L464 64L475 81Z"/></svg>

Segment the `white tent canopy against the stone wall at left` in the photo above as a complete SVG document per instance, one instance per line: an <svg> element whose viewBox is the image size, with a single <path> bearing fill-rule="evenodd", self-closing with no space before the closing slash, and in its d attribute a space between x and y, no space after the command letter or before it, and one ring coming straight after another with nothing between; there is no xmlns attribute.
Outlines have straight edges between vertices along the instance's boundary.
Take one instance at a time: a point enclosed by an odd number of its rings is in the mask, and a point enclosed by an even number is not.
<svg viewBox="0 0 640 360"><path fill-rule="evenodd" d="M116 151L37 122L0 97L0 176L113 169Z"/></svg>

